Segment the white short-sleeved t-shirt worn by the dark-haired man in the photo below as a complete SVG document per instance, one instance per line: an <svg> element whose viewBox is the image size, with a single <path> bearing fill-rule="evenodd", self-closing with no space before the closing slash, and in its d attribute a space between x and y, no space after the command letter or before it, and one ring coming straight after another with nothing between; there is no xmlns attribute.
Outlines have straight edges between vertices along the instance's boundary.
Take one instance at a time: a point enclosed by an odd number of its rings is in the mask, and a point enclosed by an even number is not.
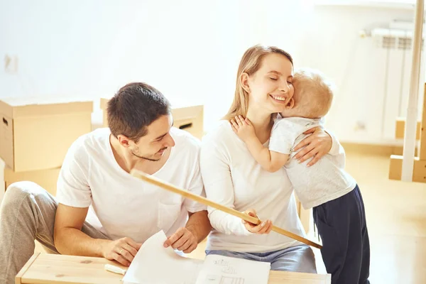
<svg viewBox="0 0 426 284"><path fill-rule="evenodd" d="M130 237L143 243L163 230L173 234L185 226L188 212L207 209L133 177L114 158L108 128L97 129L72 144L58 178L58 202L89 207L87 222L110 239ZM205 196L200 174L200 141L186 131L172 128L175 140L170 156L156 178Z"/></svg>

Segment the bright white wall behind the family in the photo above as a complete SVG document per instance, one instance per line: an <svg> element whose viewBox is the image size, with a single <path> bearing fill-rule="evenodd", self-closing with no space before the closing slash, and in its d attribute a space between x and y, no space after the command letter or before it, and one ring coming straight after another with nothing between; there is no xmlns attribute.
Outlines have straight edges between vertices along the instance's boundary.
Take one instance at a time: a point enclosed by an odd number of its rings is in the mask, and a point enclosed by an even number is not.
<svg viewBox="0 0 426 284"><path fill-rule="evenodd" d="M308 2L0 0L0 55L19 60L17 74L0 68L0 98L110 97L144 81L173 104L205 104L208 130L231 103L242 53L266 43L292 53L296 67L317 67L335 80L327 126L342 141L392 142L395 110L386 111L381 132L386 50L358 31L413 18L413 11L314 9ZM392 82L385 103L398 109L400 88L396 94ZM359 122L366 130L354 131Z"/></svg>

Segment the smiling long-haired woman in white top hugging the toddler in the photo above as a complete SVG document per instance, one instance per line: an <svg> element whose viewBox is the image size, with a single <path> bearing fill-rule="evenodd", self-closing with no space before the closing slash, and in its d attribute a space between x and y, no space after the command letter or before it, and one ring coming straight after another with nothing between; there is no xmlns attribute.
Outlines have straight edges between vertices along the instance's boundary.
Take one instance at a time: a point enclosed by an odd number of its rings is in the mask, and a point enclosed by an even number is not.
<svg viewBox="0 0 426 284"><path fill-rule="evenodd" d="M309 246L275 232L269 234L274 224L305 236L285 170L263 170L229 124L234 116L247 117L256 136L267 145L275 114L285 108L285 97L293 95L292 80L293 59L284 50L256 45L244 53L234 102L219 126L203 138L200 165L210 200L241 212L253 208L246 213L267 221L256 226L209 207L214 229L206 253L270 262L277 271L316 273ZM296 158L312 158L310 163L316 163L326 153L337 154L338 142L329 134L319 128L311 132L297 146L305 148Z"/></svg>

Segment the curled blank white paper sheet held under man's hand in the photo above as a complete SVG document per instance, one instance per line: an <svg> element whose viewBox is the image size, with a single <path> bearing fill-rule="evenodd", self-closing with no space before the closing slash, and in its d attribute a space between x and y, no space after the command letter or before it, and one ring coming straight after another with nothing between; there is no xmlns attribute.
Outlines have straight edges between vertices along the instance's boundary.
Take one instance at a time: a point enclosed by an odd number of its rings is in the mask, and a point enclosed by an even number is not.
<svg viewBox="0 0 426 284"><path fill-rule="evenodd" d="M151 236L136 253L123 282L137 284L195 284L203 261L179 256L163 243L163 231Z"/></svg>

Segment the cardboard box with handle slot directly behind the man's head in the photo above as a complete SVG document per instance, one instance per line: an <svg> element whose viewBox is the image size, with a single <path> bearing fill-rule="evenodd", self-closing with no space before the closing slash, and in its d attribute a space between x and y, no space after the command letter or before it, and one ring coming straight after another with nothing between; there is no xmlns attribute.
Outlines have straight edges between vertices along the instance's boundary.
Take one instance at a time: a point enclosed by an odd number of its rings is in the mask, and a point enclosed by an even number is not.
<svg viewBox="0 0 426 284"><path fill-rule="evenodd" d="M109 99L101 99L101 109L103 112L103 126L108 127L107 104ZM184 105L172 109L173 126L178 129L188 131L193 136L201 139L204 135L204 106Z"/></svg>

